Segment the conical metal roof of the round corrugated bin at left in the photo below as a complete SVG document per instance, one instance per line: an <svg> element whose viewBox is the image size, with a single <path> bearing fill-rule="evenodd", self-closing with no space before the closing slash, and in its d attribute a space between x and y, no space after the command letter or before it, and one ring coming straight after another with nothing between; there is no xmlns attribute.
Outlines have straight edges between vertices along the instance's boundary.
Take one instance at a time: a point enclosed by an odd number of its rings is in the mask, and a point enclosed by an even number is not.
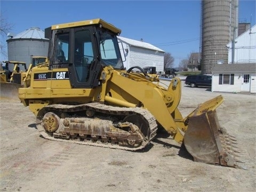
<svg viewBox="0 0 256 192"><path fill-rule="evenodd" d="M22 31L18 35L15 35L11 39L20 39L20 38L47 39L47 38L44 38L44 31L41 30L39 27L31 27L25 31Z"/></svg>

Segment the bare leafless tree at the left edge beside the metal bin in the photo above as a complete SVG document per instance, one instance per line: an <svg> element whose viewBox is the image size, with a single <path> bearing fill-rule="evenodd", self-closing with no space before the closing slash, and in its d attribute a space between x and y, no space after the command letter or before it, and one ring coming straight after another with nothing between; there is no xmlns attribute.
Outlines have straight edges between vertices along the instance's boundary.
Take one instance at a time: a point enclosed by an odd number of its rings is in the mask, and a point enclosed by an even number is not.
<svg viewBox="0 0 256 192"><path fill-rule="evenodd" d="M13 29L13 24L7 22L7 20L3 17L1 12L0 17L0 35L1 35L1 42L0 42L0 49L1 54L7 57L7 51L6 51L6 42L5 39L7 37L7 34Z"/></svg>

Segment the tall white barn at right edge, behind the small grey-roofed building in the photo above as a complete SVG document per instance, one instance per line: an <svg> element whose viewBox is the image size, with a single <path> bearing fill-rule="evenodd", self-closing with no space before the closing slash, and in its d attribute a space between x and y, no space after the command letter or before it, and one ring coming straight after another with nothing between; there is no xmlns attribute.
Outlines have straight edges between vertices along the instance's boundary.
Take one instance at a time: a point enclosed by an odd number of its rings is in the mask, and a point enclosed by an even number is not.
<svg viewBox="0 0 256 192"><path fill-rule="evenodd" d="M232 62L232 46L229 42L228 63ZM256 25L235 38L234 63L256 63Z"/></svg>

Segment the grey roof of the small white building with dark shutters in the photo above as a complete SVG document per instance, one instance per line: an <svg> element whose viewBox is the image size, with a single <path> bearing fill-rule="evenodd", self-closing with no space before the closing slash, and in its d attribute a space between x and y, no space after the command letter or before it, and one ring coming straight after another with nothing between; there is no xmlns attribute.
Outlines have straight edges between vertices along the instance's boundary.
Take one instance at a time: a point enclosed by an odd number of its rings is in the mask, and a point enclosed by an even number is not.
<svg viewBox="0 0 256 192"><path fill-rule="evenodd" d="M243 64L217 64L212 69L212 72L256 72L256 63L243 63Z"/></svg>

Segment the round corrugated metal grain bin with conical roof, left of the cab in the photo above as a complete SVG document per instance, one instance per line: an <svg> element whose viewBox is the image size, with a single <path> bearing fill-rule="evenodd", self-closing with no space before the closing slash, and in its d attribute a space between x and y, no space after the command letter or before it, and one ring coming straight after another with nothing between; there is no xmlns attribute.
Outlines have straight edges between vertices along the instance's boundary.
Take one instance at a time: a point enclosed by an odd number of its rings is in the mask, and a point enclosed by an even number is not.
<svg viewBox="0 0 256 192"><path fill-rule="evenodd" d="M44 38L44 31L38 27L31 27L16 36L6 40L8 60L31 62L31 55L47 57L49 39ZM20 68L22 69L22 68Z"/></svg>

